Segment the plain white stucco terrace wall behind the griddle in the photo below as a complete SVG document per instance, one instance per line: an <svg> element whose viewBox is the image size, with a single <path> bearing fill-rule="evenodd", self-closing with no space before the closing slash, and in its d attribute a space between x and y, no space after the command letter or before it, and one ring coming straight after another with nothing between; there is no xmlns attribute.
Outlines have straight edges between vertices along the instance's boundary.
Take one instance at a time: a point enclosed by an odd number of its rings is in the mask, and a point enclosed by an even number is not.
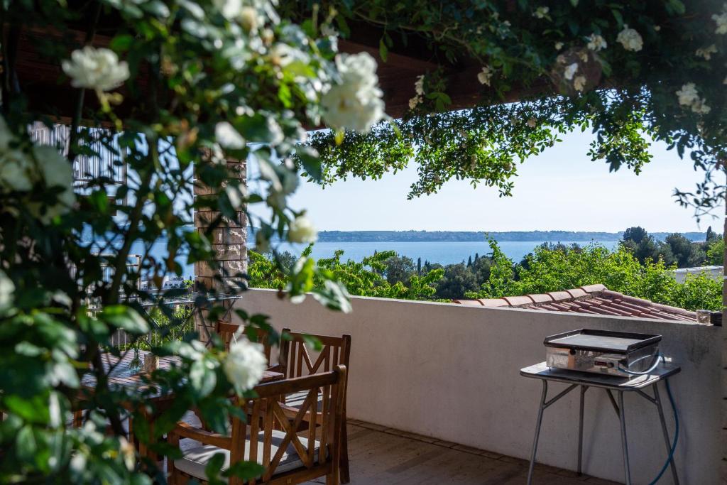
<svg viewBox="0 0 727 485"><path fill-rule="evenodd" d="M519 370L545 360L547 335L582 327L662 334L664 353L682 366L671 381L681 424L680 479L719 483L720 327L363 297L353 298L353 313L343 315L310 297L292 305L269 290L246 292L238 305L270 315L276 329L350 334L350 417L524 459L541 383ZM563 388L552 383L549 396ZM632 478L645 484L666 456L661 428L653 404L635 393L625 402ZM622 481L618 418L603 390L589 390L585 406L584 471ZM545 411L539 462L576 468L577 417L575 390ZM667 473L659 483L670 482Z"/></svg>

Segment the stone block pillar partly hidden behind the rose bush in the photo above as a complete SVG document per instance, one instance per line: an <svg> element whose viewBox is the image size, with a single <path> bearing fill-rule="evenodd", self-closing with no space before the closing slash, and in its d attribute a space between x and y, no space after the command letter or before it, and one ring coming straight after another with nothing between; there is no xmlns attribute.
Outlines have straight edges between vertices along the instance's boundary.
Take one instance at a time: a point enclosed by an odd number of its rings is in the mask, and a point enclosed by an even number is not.
<svg viewBox="0 0 727 485"><path fill-rule="evenodd" d="M230 177L246 182L246 162L245 161L228 161L228 171ZM215 192L205 185L198 184L195 181L195 196L206 196ZM194 226L196 231L204 232L209 227L219 212L197 211L194 214ZM196 274L196 287L198 289L208 288L217 289L219 292L228 292L228 288L238 288L242 278L235 275L244 273L247 270L247 217L244 212L237 212L233 220L224 219L226 225L222 225L212 232L212 249L214 249L214 260L218 262L222 272L222 281L214 279L215 271L205 262L194 263L194 272ZM224 223L223 223L224 224ZM225 276L225 274L227 276ZM229 321L229 316L228 316ZM206 340L207 332L214 332L214 322L203 321L201 318L195 318L196 328L200 334L201 340ZM207 327L202 329L200 326Z"/></svg>

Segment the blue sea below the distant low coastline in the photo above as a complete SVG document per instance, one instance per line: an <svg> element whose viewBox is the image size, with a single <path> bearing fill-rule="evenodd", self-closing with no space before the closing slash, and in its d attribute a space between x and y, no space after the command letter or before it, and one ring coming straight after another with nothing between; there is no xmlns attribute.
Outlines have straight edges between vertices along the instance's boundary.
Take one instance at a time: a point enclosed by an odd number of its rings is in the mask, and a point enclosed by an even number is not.
<svg viewBox="0 0 727 485"><path fill-rule="evenodd" d="M510 260L520 262L523 257L533 249L545 241L498 241L500 249ZM598 244L608 249L614 249L618 241L560 241L563 244L578 244L579 246L587 246L588 244ZM300 254L305 245L297 244L279 244L279 251L289 251L293 254ZM486 241L422 241L422 242L318 242L313 246L312 257L319 259L323 257L332 257L338 249L343 251L342 260L361 261L366 256L371 256L374 252L395 251L402 256L411 257L414 263L419 257L422 258L422 264L425 261L438 262L441 265L451 265L458 262L467 262L471 256L473 259L475 254L485 255L491 252ZM132 246L132 254L142 251L142 246ZM152 247L150 254L156 257L164 257L166 254L166 243L160 241ZM182 276L191 277L194 274L194 266L185 263L186 258L179 257L184 268Z"/></svg>

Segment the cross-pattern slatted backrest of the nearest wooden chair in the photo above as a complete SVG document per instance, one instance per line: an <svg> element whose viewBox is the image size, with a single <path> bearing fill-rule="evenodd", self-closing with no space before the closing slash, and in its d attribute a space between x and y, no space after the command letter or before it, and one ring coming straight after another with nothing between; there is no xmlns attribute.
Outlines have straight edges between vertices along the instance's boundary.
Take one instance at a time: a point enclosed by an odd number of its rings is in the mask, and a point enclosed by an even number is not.
<svg viewBox="0 0 727 485"><path fill-rule="evenodd" d="M286 471L287 478L292 479L297 473L310 478L310 470L313 468L319 470L329 468L337 473L340 462L341 429L344 425L345 388L345 366L335 366L330 372L257 386L255 392L258 397L245 401L241 406L244 414L248 416L247 421L233 417L230 463L241 460L257 461L265 468L258 481L267 482L276 474L276 468L292 445L302 466L297 470ZM289 410L284 410L280 403L280 396L288 393L305 393L306 396L294 416L286 414ZM319 393L323 393L323 402L320 411L316 412ZM303 437L305 439L301 440L297 430L304 419L310 420L311 425ZM316 429L320 431L318 439L316 439ZM273 447L273 430L278 430L275 447ZM279 441L281 433L284 433L284 436ZM240 479L230 479L230 484L242 483ZM252 480L249 483L257 482ZM293 480L289 483L301 482Z"/></svg>

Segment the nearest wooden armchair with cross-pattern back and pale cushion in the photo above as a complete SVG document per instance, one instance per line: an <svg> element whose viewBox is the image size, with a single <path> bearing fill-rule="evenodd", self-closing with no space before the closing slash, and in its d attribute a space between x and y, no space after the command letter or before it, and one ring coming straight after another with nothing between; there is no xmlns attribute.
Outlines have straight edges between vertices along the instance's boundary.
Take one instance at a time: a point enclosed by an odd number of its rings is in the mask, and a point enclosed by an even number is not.
<svg viewBox="0 0 727 485"><path fill-rule="evenodd" d="M326 484L340 482L340 439L343 421L343 400L346 388L346 368L336 366L330 372L308 377L281 380L255 388L257 398L241 404L243 412L252 419L243 422L233 418L230 436L211 433L179 422L167 440L179 446L180 439L190 438L199 446L182 450L182 458L168 460L169 484L185 484L190 478L206 483L205 467L214 454L225 456L225 465L249 460L258 462L265 471L248 484L292 485L325 476ZM291 421L279 402L280 396L305 393L306 398ZM319 393L323 395L321 412L316 412ZM305 437L298 436L297 426L305 418L310 426ZM320 437L316 439L316 427ZM278 428L278 429L276 429ZM242 485L241 478L230 477L231 485Z"/></svg>

